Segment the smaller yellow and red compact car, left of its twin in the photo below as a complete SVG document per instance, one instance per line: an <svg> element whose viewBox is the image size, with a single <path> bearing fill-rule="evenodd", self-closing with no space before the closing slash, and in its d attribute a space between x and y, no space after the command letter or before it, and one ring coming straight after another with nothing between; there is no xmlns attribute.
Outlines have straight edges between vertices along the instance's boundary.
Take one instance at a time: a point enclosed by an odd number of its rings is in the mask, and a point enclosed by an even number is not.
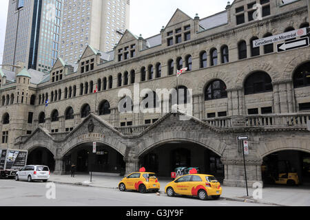
<svg viewBox="0 0 310 220"><path fill-rule="evenodd" d="M118 184L118 188L121 191L137 190L141 193L147 191L158 192L161 184L159 184L155 173L136 172L122 179Z"/></svg>

